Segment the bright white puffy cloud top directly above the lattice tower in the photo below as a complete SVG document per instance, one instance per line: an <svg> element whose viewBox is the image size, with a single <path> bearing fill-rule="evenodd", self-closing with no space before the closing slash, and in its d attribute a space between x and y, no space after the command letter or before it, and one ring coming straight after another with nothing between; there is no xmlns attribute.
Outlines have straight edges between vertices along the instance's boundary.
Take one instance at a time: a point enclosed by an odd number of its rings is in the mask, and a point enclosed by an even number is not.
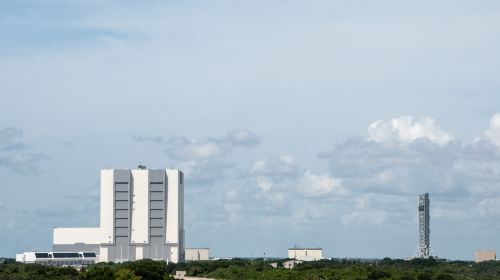
<svg viewBox="0 0 500 280"><path fill-rule="evenodd" d="M441 130L434 119L421 118L416 121L412 116L402 116L390 121L378 120L368 127L367 139L377 143L411 143L426 138L438 145L445 145L453 136Z"/></svg>

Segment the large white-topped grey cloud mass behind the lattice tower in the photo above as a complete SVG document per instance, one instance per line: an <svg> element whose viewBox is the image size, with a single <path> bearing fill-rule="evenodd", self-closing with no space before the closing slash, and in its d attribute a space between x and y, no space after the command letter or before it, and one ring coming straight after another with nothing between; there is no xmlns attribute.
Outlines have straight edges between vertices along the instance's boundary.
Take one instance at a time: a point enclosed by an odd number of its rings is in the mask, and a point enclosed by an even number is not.
<svg viewBox="0 0 500 280"><path fill-rule="evenodd" d="M500 197L500 155L495 152L499 127L496 114L482 138L465 143L430 118L406 116L374 122L364 137L337 143L322 157L328 159L331 176L349 190L346 198L355 202L344 208L341 223L401 224L414 215L408 209L416 204L411 198L429 192L433 217L441 222L471 219L485 224L487 217L497 216Z"/></svg>

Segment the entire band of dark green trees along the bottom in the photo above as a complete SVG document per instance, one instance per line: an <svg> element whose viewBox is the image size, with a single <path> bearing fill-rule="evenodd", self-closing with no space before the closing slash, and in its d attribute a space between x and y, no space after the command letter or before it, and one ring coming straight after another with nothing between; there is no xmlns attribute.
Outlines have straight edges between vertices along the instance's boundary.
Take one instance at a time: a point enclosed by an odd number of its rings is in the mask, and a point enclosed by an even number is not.
<svg viewBox="0 0 500 280"><path fill-rule="evenodd" d="M355 261L322 260L305 262L285 269L287 260L217 260L168 264L141 260L122 264L99 263L77 271L69 267L50 267L7 261L0 264L0 280L164 280L177 270L190 276L218 279L351 279L351 280L486 280L500 279L500 262L447 262L441 260ZM276 262L278 268L270 264Z"/></svg>

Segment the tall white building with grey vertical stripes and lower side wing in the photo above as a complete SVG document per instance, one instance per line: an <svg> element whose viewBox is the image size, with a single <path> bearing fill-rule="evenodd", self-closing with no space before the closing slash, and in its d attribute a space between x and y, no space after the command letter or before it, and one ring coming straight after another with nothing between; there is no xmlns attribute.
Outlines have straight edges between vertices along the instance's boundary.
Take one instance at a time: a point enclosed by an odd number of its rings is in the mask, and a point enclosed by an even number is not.
<svg viewBox="0 0 500 280"><path fill-rule="evenodd" d="M179 170L101 170L99 228L54 228L53 250L99 261L184 261L184 179Z"/></svg>

